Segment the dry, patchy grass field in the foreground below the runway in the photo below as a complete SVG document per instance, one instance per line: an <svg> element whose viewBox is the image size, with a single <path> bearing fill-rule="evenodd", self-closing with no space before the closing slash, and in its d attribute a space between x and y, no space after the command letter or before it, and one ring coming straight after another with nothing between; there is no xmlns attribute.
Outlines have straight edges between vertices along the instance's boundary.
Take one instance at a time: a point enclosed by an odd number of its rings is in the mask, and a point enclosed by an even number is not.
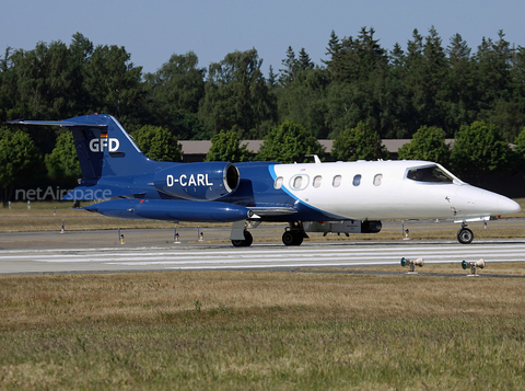
<svg viewBox="0 0 525 391"><path fill-rule="evenodd" d="M0 276L0 389L523 390L524 324L523 278Z"/></svg>

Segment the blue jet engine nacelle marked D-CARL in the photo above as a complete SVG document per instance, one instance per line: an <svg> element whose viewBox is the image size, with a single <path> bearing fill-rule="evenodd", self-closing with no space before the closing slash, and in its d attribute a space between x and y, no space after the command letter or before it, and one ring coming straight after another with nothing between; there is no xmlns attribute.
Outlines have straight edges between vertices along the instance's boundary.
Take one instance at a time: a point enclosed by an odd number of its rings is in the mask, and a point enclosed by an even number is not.
<svg viewBox="0 0 525 391"><path fill-rule="evenodd" d="M238 169L224 162L178 164L155 173L159 192L190 200L215 200L235 192Z"/></svg>

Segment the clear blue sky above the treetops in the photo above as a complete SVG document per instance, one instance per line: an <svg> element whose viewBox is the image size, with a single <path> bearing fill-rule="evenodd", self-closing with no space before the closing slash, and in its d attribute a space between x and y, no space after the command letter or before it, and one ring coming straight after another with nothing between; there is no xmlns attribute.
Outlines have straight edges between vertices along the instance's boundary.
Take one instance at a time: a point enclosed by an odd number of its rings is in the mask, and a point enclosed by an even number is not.
<svg viewBox="0 0 525 391"><path fill-rule="evenodd" d="M516 0L16 0L0 5L0 54L38 42L71 43L82 33L96 45L124 46L135 66L155 72L173 54L194 51L208 68L229 53L257 49L262 71L282 69L289 46L316 65L339 38L373 27L380 45L406 49L412 31L434 26L446 47L456 33L472 53L483 37L525 46L525 1Z"/></svg>

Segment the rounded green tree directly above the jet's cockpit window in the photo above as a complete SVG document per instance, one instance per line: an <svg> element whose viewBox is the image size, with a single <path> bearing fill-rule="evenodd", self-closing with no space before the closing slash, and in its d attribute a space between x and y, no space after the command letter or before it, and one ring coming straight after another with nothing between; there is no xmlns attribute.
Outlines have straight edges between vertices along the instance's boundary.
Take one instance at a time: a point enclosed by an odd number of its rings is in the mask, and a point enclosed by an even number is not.
<svg viewBox="0 0 525 391"><path fill-rule="evenodd" d="M421 126L410 142L398 151L399 160L427 160L447 165L451 148L445 142L445 131L434 126Z"/></svg>

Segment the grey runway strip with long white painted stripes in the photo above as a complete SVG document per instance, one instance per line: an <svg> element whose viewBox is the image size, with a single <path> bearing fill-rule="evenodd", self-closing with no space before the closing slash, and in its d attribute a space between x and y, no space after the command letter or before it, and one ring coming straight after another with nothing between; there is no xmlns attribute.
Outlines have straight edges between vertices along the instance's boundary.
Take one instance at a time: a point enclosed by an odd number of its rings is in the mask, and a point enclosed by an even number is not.
<svg viewBox="0 0 525 391"><path fill-rule="evenodd" d="M82 232L81 232L82 233ZM202 269L294 269L399 265L400 258L423 257L425 264L483 258L524 262L525 240L492 240L462 245L452 241L332 242L284 246L281 243L233 248L220 244L162 246L108 245L106 248L18 249L0 254L0 274L101 273Z"/></svg>

